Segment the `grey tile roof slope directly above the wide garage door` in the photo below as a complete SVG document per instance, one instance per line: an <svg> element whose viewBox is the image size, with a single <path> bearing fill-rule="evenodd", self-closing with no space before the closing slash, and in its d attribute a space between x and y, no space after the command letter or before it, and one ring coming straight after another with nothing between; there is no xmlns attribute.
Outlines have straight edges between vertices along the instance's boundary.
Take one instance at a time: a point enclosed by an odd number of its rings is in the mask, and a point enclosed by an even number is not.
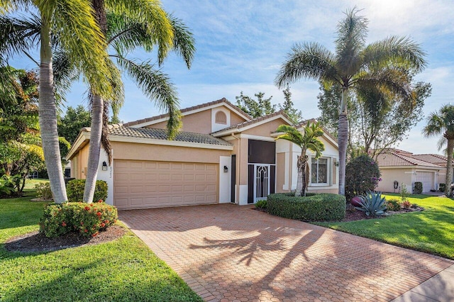
<svg viewBox="0 0 454 302"><path fill-rule="evenodd" d="M131 128L121 124L109 125L110 135L125 136L128 138L149 138L153 140L167 140L167 130L156 128ZM209 134L179 132L175 137L177 142L195 142L199 144L231 146L230 142L215 138Z"/></svg>

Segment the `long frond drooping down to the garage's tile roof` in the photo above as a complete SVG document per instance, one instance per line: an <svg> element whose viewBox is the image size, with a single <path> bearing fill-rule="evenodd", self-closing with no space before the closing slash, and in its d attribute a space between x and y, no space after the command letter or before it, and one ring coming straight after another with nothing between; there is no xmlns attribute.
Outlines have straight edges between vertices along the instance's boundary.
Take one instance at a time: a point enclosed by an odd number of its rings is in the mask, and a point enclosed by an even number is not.
<svg viewBox="0 0 454 302"><path fill-rule="evenodd" d="M167 74L154 69L150 62L135 62L121 56L117 56L117 62L135 81L143 94L151 101L155 101L161 111L167 110L169 113L167 133L170 139L175 138L181 127L181 113L177 91Z"/></svg>

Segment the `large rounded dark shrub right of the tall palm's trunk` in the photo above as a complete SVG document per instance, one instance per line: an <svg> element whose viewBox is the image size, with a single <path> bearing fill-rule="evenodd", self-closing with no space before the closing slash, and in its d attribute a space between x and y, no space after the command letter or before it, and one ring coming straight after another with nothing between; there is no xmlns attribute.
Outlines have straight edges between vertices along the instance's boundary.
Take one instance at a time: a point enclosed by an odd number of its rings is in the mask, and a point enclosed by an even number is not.
<svg viewBox="0 0 454 302"><path fill-rule="evenodd" d="M377 188L380 178L377 162L368 155L360 155L345 166L345 197L347 200Z"/></svg>

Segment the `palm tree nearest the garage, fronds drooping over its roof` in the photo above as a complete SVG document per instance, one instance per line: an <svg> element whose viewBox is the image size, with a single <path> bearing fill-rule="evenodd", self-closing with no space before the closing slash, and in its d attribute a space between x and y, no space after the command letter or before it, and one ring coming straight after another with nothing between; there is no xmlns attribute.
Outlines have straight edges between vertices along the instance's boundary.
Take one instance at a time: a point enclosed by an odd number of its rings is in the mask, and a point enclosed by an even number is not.
<svg viewBox="0 0 454 302"><path fill-rule="evenodd" d="M174 138L180 126L179 101L169 79L148 62L136 63L125 57L125 52L135 47L153 50L158 46L158 59L162 63L168 50L177 50L187 62L189 68L194 56L194 39L184 24L176 18L169 18L157 1L138 0L128 1L128 6L112 0L92 0L96 13L96 21L106 35L107 45L113 45L116 51L111 57L128 75L138 83L150 99L155 99L161 108L167 108L169 120L167 130L170 138ZM105 6L104 6L105 5ZM106 7L110 14L106 13ZM131 10L135 13L131 13ZM109 18L108 18L109 17ZM110 22L109 22L110 21ZM114 63L111 68L116 69ZM121 79L120 79L121 82ZM116 86L121 86L120 83ZM123 94L116 94L117 99L111 100L114 114L123 104ZM99 168L101 144L106 150L111 164L111 147L107 137L109 122L108 102L101 96L92 94L92 128L90 132L89 158L87 164L87 179L84 189L84 201L92 202L96 177Z"/></svg>

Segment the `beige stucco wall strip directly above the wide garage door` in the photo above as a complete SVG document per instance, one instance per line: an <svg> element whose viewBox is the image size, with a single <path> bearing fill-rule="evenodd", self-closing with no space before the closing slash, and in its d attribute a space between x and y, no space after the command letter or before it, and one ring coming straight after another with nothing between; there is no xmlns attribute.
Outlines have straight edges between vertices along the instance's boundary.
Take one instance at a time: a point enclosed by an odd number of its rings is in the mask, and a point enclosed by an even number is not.
<svg viewBox="0 0 454 302"><path fill-rule="evenodd" d="M166 145L111 142L116 160L160 160L170 162L219 163L220 156L230 156L230 150L175 147Z"/></svg>

